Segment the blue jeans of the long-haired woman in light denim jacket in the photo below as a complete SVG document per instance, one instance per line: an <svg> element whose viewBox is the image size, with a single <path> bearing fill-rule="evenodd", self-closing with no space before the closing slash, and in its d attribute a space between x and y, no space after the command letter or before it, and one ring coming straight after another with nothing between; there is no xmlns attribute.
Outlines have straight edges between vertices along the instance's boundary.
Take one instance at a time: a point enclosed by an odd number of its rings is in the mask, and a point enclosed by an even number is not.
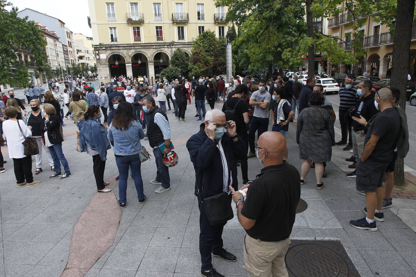
<svg viewBox="0 0 416 277"><path fill-rule="evenodd" d="M144 199L143 194L143 180L141 179L141 162L139 154L130 156L116 156L116 164L119 169L119 202L126 203L127 193L127 177L129 177L129 167L131 168L131 175L134 179L134 186L137 191L137 198L139 200Z"/></svg>

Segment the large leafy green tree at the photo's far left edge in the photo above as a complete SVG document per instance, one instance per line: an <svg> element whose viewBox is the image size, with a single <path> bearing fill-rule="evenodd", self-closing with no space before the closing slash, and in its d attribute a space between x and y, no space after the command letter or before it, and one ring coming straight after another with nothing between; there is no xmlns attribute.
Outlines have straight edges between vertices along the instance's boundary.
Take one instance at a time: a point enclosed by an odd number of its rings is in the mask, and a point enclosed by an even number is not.
<svg viewBox="0 0 416 277"><path fill-rule="evenodd" d="M10 6L10 2L0 0L0 29L4 30L0 43L0 80L12 86L28 86L31 82L28 67L18 62L18 51L30 51L31 61L41 67L47 59L46 41L35 22L17 17L17 8L11 6L8 11Z"/></svg>

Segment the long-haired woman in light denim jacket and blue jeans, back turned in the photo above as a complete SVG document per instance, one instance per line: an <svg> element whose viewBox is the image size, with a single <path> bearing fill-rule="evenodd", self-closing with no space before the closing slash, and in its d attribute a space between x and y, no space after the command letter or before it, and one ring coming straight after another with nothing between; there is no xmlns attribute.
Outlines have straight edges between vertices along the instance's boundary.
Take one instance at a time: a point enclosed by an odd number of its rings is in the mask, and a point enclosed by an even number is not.
<svg viewBox="0 0 416 277"><path fill-rule="evenodd" d="M128 136L128 137L127 137ZM144 138L144 132L140 122L133 115L133 106L128 102L121 102L115 111L114 118L108 129L108 139L114 146L114 155L119 169L119 205L126 207L127 177L129 167L136 186L139 203L144 203L146 196L143 194L143 180L141 179L141 162L137 150L143 147L140 140ZM131 142L130 142L130 140ZM132 145L133 143L133 145Z"/></svg>

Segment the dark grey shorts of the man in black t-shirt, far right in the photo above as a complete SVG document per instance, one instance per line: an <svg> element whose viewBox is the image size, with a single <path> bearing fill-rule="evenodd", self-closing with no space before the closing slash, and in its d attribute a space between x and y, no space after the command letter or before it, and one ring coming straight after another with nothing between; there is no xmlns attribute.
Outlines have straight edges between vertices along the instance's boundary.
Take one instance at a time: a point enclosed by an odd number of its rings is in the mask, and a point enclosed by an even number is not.
<svg viewBox="0 0 416 277"><path fill-rule="evenodd" d="M388 162L374 162L366 160L362 162L361 159L357 163L357 191L375 192L376 188L380 188L383 184L384 172L386 172Z"/></svg>

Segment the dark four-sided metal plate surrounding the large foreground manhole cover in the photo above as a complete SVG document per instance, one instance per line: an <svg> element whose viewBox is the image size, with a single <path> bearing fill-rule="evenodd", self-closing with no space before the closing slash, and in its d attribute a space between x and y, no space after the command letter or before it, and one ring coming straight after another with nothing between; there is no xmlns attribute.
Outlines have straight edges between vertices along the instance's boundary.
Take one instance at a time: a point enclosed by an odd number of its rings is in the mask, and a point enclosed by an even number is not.
<svg viewBox="0 0 416 277"><path fill-rule="evenodd" d="M293 277L359 277L357 269L335 240L292 240L286 267Z"/></svg>

